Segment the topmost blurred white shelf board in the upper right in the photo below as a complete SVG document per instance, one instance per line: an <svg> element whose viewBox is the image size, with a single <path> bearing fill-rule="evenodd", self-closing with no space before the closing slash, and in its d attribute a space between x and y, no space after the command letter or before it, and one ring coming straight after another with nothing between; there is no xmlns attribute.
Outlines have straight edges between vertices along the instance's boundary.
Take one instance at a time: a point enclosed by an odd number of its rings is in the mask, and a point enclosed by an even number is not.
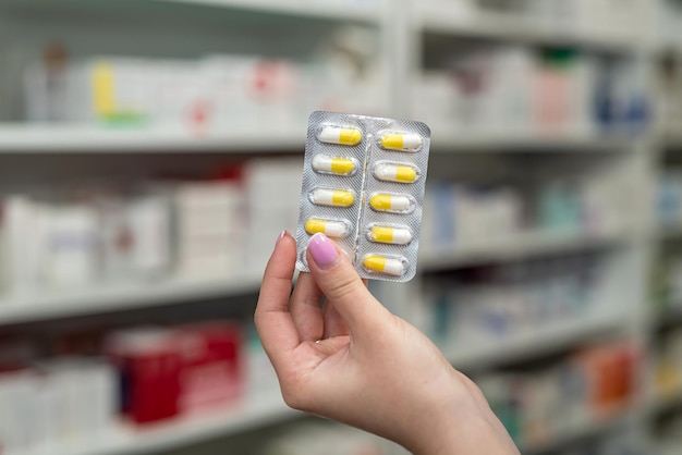
<svg viewBox="0 0 682 455"><path fill-rule="evenodd" d="M497 41L537 45L574 45L606 51L626 52L654 49L654 39L608 29L581 29L540 20L504 14L472 12L462 14L442 2L419 2L417 14L427 33L465 36Z"/></svg>

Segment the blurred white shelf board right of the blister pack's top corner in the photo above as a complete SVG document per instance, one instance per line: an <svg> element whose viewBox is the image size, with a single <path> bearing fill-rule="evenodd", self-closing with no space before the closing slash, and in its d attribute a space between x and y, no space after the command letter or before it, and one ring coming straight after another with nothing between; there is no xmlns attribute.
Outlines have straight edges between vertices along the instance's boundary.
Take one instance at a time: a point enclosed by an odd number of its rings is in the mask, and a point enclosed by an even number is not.
<svg viewBox="0 0 682 455"><path fill-rule="evenodd" d="M580 135L471 135L452 133L448 125L431 125L433 152L619 152L632 150L633 137ZM637 140L637 139L635 139Z"/></svg>

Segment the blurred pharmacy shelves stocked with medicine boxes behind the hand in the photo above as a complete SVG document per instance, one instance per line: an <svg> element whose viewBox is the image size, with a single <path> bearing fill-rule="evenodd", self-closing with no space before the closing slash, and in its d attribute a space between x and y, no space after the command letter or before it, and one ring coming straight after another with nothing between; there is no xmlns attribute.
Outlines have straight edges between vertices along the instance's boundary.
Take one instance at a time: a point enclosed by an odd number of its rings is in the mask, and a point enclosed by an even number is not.
<svg viewBox="0 0 682 455"><path fill-rule="evenodd" d="M681 1L0 0L3 455L404 454L252 327L316 109L430 125L370 288L524 454L682 454Z"/></svg>

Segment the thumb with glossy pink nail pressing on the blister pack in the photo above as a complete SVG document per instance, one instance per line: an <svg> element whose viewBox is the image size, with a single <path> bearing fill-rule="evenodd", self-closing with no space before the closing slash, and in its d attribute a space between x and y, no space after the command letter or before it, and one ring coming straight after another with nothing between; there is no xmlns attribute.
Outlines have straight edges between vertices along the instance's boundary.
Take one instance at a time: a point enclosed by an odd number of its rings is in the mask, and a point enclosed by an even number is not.
<svg viewBox="0 0 682 455"><path fill-rule="evenodd" d="M376 328L390 315L363 284L351 261L325 234L310 237L307 259L315 282L351 332Z"/></svg>

